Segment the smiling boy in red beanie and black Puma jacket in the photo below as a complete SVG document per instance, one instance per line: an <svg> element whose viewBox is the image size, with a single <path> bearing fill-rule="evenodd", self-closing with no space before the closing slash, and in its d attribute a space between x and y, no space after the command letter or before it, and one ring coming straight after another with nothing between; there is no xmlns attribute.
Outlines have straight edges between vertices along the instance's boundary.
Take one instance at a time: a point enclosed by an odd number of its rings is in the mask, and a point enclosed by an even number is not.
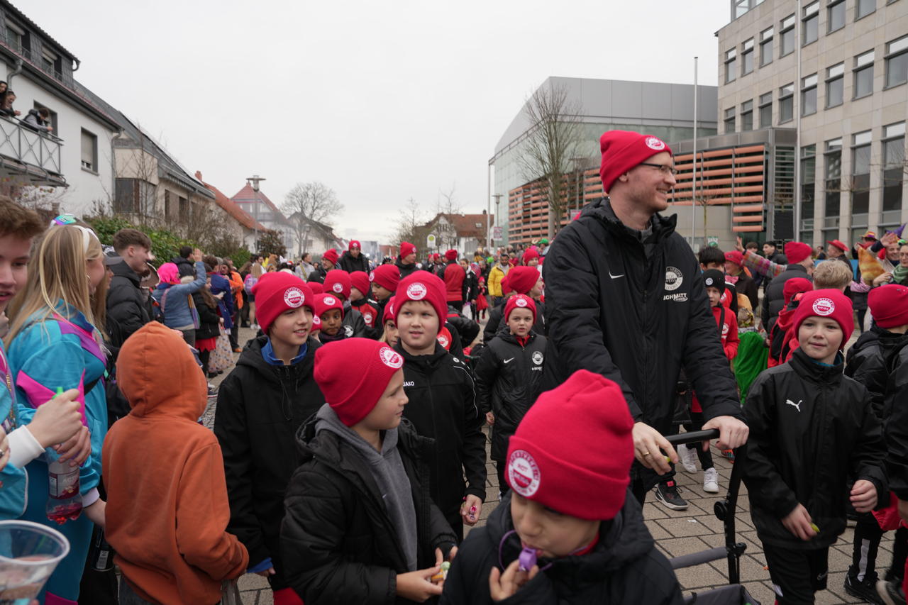
<svg viewBox="0 0 908 605"><path fill-rule="evenodd" d="M846 499L869 512L886 493L883 434L870 393L843 376L851 301L838 290L805 293L792 329L798 348L791 360L760 374L744 407L744 481L780 605L813 603L814 592L826 588L829 546L844 531Z"/></svg>

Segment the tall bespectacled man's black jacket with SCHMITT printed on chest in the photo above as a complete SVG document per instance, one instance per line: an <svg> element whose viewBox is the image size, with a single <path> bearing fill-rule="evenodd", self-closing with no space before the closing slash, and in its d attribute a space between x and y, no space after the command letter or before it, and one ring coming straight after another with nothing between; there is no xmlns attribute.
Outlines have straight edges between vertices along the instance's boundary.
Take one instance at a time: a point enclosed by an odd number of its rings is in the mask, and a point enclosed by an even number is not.
<svg viewBox="0 0 908 605"><path fill-rule="evenodd" d="M621 386L635 421L666 434L684 367L706 421L744 418L700 264L675 233L676 218L654 214L641 242L603 198L558 233L543 266L544 391L580 369L601 374Z"/></svg>

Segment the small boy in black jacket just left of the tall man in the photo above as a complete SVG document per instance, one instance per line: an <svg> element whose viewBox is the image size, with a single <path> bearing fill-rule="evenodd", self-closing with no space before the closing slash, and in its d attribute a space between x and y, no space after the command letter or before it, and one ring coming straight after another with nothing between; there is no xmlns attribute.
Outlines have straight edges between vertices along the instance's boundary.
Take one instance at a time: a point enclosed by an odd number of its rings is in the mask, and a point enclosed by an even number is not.
<svg viewBox="0 0 908 605"><path fill-rule="evenodd" d="M492 425L492 455L498 471L498 489L508 491L505 454L508 439L541 392L546 337L533 332L536 304L516 294L505 305L508 332L498 332L476 365L479 410Z"/></svg>

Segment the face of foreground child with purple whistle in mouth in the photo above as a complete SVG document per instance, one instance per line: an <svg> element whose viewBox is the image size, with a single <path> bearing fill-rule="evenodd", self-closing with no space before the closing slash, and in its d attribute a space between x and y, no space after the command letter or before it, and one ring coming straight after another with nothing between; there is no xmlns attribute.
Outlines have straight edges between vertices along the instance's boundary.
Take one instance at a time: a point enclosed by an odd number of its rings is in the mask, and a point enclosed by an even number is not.
<svg viewBox="0 0 908 605"><path fill-rule="evenodd" d="M553 511L516 491L511 495L511 519L523 546L542 550L547 558L566 557L589 545L599 531L599 521L577 519Z"/></svg>

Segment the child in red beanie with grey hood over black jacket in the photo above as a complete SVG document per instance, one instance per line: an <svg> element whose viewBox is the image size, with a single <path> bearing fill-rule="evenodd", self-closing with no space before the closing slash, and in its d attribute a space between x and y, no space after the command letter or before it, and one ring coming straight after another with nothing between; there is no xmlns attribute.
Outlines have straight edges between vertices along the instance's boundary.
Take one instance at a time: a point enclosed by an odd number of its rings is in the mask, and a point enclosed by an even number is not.
<svg viewBox="0 0 908 605"><path fill-rule="evenodd" d="M420 486L431 442L401 420L403 358L364 338L316 355L325 405L303 427L281 546L307 603L422 602L455 537ZM350 373L350 360L358 372Z"/></svg>

